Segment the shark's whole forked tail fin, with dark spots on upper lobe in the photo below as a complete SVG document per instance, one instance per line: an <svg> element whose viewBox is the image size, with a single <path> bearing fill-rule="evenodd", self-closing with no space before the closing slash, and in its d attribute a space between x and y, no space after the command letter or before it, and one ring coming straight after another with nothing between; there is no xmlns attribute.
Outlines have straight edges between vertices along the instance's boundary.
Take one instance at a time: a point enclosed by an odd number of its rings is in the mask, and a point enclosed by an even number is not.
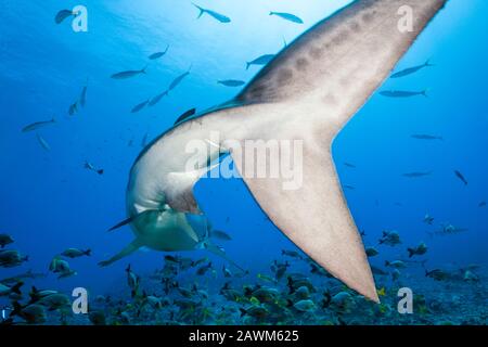
<svg viewBox="0 0 488 347"><path fill-rule="evenodd" d="M236 160L258 204L306 254L374 301L380 299L373 275L331 145L446 2L355 1L281 52L236 99L264 108L255 107L261 120L246 139L303 140L296 189L284 190L283 178L248 177L249 163ZM412 9L413 30L399 29L400 5Z"/></svg>

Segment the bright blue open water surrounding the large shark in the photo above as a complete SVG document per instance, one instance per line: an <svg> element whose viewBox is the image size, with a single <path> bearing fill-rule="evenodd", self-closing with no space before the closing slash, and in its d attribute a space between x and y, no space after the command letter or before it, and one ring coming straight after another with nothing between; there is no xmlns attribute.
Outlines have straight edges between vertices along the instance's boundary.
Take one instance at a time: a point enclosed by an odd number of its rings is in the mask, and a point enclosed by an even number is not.
<svg viewBox="0 0 488 347"><path fill-rule="evenodd" d="M97 265L133 239L128 228L106 230L126 218L128 174L144 136L155 139L191 107L203 111L230 100L239 89L217 80L249 81L258 68L246 70L246 62L278 53L284 41L292 42L349 2L202 0L198 4L232 18L222 24L209 16L196 20L198 11L190 1L64 1L66 9L78 4L88 9L88 33L74 33L69 21L54 23L62 10L59 1L2 0L0 233L12 235L15 243L9 247L29 260L0 269L0 279L28 269L47 272L53 256L68 247L90 248L92 256L69 261L76 277L59 281L50 274L36 280L37 286L118 293L126 285L124 269L129 262L140 273L160 268L163 255L155 252L138 252L110 268ZM297 14L305 24L269 16L269 11ZM402 239L400 247L380 246L373 265L406 258L407 246L422 241L428 245L423 257L428 269L479 264L481 275L487 265L488 214L479 207L488 200L487 16L484 0L450 1L398 69L426 60L435 66L390 79L381 88L428 89L428 98L398 100L376 93L334 142L342 182L356 188L345 191L358 228L365 231L364 244L378 247L383 230L397 230ZM167 46L164 57L147 61ZM110 78L147 64L146 75L123 81ZM140 113L130 112L190 67L170 97ZM69 116L68 107L86 83L87 105ZM48 152L34 132L21 130L52 117L56 124L38 131L51 147ZM444 141L415 140L414 133L438 134ZM104 175L85 169L86 160L103 168ZM464 175L467 185L454 170ZM402 177L413 171L432 175ZM266 219L241 180L204 180L195 194L214 227L232 235L226 252L251 270L253 281L256 273L269 272L273 259L281 259L281 249L295 249ZM426 214L435 218L433 227L423 222ZM441 223L467 231L429 236L427 231L439 230ZM209 256L217 271L223 264L204 250L188 256ZM422 268L410 273L428 281Z"/></svg>

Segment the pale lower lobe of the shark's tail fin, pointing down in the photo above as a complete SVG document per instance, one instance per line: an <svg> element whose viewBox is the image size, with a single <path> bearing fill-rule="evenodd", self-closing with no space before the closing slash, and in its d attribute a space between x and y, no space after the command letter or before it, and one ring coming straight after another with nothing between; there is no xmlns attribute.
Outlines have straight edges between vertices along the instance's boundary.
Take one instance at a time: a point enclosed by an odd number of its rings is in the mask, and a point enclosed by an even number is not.
<svg viewBox="0 0 488 347"><path fill-rule="evenodd" d="M292 189L283 177L248 177L245 160L235 164L264 211L292 242L332 275L378 301L364 247L335 171L330 143L313 141L311 136L304 142L303 165L295 167L303 171L303 180Z"/></svg>

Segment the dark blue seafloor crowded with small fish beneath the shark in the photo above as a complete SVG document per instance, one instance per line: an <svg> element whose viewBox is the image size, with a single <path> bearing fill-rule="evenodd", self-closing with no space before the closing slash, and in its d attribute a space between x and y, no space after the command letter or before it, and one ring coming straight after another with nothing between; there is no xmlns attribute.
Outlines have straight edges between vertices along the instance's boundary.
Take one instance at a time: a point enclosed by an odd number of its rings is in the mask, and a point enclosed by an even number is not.
<svg viewBox="0 0 488 347"><path fill-rule="evenodd" d="M44 304L35 324L307 324L307 325L486 325L488 291L480 266L425 275L411 264L393 279L375 275L381 304L368 301L317 268L308 258L270 266L269 273L214 268L206 259L171 258L162 269L137 274L132 269L114 293L90 296L89 313L74 314L67 305ZM310 266L309 269L305 270ZM218 269L218 270L217 270ZM470 271L470 277L466 277ZM400 272L396 271L396 277ZM475 273L475 274L474 274ZM123 281L123 279L120 279ZM413 312L398 312L400 287L413 292ZM27 300L23 306L28 307ZM24 324L14 317L4 324Z"/></svg>

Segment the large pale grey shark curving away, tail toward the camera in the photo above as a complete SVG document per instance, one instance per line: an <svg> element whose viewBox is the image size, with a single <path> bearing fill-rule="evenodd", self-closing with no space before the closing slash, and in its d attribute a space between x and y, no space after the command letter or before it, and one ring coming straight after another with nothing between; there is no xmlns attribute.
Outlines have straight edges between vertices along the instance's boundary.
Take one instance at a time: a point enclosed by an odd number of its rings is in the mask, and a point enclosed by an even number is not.
<svg viewBox="0 0 488 347"><path fill-rule="evenodd" d="M358 228L332 157L332 142L448 0L357 0L287 46L229 103L192 116L163 133L137 158L126 192L134 241L101 266L140 247L221 249L193 187L216 164L226 139L303 141L303 184L242 175L269 219L303 252L360 295L380 303ZM409 24L401 27L401 21ZM210 142L208 165L194 170L185 145ZM232 151L228 151L233 156ZM244 160L236 160L242 174Z"/></svg>

